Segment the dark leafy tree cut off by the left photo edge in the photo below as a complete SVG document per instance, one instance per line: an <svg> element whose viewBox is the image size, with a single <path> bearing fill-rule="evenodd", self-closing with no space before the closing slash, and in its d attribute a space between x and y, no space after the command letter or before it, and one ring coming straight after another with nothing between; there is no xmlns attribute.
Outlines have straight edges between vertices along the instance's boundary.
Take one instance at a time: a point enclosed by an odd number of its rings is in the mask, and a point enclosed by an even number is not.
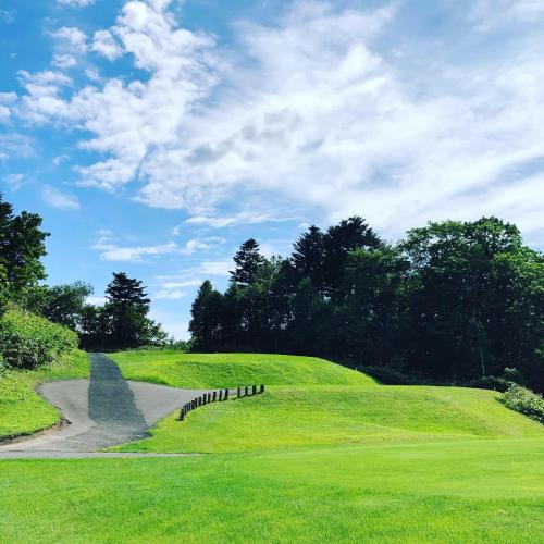
<svg viewBox="0 0 544 544"><path fill-rule="evenodd" d="M41 218L26 211L15 215L0 193L0 281L5 296L16 299L25 289L46 279L41 257L46 256Z"/></svg>

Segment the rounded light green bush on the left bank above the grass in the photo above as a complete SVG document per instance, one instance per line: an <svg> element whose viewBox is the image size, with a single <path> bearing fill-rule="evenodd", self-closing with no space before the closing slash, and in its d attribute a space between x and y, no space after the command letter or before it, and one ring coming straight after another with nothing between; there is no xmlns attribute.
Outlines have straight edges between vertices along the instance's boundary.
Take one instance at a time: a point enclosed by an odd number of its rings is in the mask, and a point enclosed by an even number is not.
<svg viewBox="0 0 544 544"><path fill-rule="evenodd" d="M18 308L0 319L0 355L8 367L35 369L77 347L74 331Z"/></svg>

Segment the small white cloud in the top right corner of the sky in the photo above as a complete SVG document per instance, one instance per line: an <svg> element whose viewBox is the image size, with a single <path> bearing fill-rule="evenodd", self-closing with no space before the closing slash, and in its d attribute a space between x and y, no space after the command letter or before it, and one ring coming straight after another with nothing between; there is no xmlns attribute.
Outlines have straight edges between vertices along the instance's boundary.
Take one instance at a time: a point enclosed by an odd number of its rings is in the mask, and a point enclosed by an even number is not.
<svg viewBox="0 0 544 544"><path fill-rule="evenodd" d="M544 15L542 0L477 0L469 21L478 30L489 32L512 22L530 23Z"/></svg>

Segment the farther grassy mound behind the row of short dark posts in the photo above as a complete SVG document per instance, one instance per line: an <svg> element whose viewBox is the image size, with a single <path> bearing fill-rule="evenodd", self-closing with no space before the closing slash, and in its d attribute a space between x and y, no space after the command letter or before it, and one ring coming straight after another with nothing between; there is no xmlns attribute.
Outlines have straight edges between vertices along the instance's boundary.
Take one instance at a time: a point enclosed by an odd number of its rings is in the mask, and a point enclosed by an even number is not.
<svg viewBox="0 0 544 544"><path fill-rule="evenodd" d="M109 355L127 380L174 387L372 385L374 380L316 357L262 354L121 351Z"/></svg>

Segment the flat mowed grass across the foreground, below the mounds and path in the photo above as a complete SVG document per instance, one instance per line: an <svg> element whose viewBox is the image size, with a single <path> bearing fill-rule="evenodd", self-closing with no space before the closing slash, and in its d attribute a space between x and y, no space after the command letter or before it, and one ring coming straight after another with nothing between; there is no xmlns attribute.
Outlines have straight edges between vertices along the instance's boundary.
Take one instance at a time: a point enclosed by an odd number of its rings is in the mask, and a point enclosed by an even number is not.
<svg viewBox="0 0 544 544"><path fill-rule="evenodd" d="M544 441L0 461L1 542L537 543Z"/></svg>

